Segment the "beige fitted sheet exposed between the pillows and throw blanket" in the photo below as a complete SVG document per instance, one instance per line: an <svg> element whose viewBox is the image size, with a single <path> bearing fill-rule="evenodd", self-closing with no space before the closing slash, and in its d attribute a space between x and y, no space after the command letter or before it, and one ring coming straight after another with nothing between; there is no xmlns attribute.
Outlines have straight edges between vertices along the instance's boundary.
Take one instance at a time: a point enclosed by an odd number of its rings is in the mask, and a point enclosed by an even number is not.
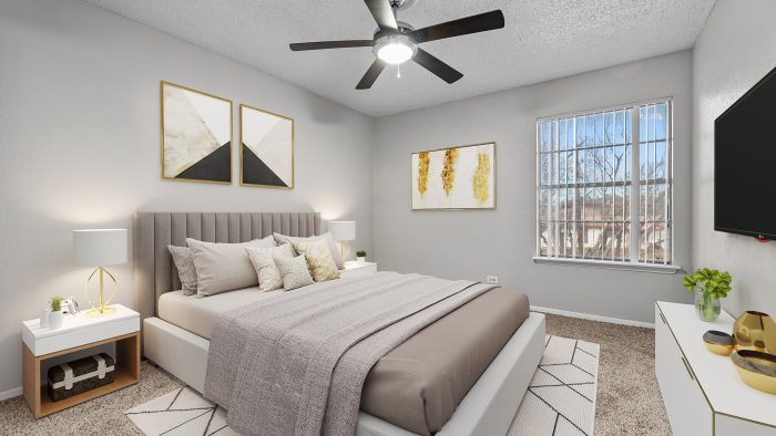
<svg viewBox="0 0 776 436"><path fill-rule="evenodd" d="M258 287L217 293L210 297L165 292L159 298L159 318L210 341L218 316L254 301L280 295L283 290L259 292Z"/></svg>

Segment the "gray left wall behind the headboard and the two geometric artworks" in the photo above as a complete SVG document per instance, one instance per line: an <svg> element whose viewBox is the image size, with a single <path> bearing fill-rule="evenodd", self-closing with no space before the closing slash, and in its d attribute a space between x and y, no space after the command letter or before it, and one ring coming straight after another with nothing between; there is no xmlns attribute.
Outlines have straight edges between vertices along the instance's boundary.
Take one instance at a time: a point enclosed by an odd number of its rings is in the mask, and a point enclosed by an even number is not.
<svg viewBox="0 0 776 436"><path fill-rule="evenodd" d="M294 117L296 188L160 179L160 80L233 100L235 141L239 103ZM99 8L0 2L0 393L21 385L21 320L82 295L71 230L129 228L135 210L315 210L356 220L354 248L371 250L371 138L367 116ZM131 304L132 264L112 271Z"/></svg>

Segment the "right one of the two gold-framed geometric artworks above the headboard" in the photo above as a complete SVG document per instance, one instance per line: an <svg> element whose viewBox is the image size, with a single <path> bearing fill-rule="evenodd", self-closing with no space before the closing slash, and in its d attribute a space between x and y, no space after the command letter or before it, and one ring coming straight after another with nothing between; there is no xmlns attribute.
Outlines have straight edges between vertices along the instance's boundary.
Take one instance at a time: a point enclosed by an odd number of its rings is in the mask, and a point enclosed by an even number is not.
<svg viewBox="0 0 776 436"><path fill-rule="evenodd" d="M294 188L294 120L239 105L241 185Z"/></svg>

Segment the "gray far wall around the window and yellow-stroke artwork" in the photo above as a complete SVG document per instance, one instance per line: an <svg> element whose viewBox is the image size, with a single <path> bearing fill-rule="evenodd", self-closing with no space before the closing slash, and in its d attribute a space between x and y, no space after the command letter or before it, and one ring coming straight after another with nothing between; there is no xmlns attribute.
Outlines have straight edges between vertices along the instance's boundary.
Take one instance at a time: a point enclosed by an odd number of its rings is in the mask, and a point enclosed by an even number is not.
<svg viewBox="0 0 776 436"><path fill-rule="evenodd" d="M643 322L655 300L687 301L681 274L534 264L535 120L674 97L675 259L691 262L691 53L639 61L533 86L379 118L375 247L381 269L449 278L500 277L532 304ZM410 153L498 143L497 206L410 211Z"/></svg>

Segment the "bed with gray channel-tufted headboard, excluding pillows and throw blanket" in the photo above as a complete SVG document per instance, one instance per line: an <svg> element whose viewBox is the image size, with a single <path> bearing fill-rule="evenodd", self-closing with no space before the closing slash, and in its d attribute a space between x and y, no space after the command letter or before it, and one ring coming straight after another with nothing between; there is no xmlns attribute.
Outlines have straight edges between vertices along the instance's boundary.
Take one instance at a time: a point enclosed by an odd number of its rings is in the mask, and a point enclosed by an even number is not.
<svg viewBox="0 0 776 436"><path fill-rule="evenodd" d="M144 319L144 355L203 392L215 320L282 292L244 289L202 299L185 297L175 291L180 281L166 246L185 246L186 237L241 242L273 231L320 235L320 217L136 214L135 307ZM543 315L529 313L524 295L504 289L483 293L380 359L361 392L356 434L506 434L541 359L543 338Z"/></svg>

